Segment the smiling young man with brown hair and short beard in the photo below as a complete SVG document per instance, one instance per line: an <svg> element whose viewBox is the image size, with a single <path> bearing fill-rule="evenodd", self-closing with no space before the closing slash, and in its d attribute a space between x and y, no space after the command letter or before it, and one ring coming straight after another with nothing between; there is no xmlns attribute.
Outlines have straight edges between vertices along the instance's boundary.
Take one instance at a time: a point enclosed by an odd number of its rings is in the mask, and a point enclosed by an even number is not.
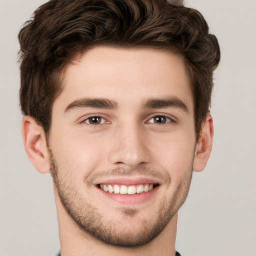
<svg viewBox="0 0 256 256"><path fill-rule="evenodd" d="M213 137L219 47L165 0L50 0L19 32L27 156L54 183L61 256L171 255Z"/></svg>

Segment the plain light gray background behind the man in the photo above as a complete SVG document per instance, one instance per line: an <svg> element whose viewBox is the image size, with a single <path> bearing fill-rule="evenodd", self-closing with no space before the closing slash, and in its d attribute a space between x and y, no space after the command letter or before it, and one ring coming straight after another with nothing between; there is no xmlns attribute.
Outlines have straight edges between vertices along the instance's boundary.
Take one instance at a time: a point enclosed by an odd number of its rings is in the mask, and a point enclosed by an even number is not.
<svg viewBox="0 0 256 256"><path fill-rule="evenodd" d="M0 0L0 255L53 255L58 230L50 175L23 150L17 33L45 0ZM179 211L182 256L256 255L256 0L186 0L221 48L211 113L213 151Z"/></svg>

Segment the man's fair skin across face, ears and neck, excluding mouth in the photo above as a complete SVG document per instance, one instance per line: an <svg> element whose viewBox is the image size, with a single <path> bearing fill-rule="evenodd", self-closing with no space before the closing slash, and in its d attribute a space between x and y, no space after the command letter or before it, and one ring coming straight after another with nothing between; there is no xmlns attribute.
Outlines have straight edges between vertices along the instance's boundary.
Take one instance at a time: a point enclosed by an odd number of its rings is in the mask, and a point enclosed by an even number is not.
<svg viewBox="0 0 256 256"><path fill-rule="evenodd" d="M61 255L174 255L177 210L191 170L206 165L213 136L207 115L196 140L183 58L148 48L97 46L66 66L62 85L48 141L32 117L22 120L28 158L53 176ZM112 105L92 106L95 98ZM161 104L146 103L152 99ZM166 99L172 104L164 106ZM95 116L98 123L91 124ZM137 183L150 178L158 186L140 202L133 195L118 201L98 188L109 178Z"/></svg>

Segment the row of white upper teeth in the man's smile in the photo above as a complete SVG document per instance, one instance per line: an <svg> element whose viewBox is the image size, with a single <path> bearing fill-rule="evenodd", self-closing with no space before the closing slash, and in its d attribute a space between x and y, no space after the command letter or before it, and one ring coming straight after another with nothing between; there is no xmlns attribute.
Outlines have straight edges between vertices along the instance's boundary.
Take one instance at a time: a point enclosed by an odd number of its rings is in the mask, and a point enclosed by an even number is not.
<svg viewBox="0 0 256 256"><path fill-rule="evenodd" d="M147 192L153 189L153 184L138 184L138 185L111 185L111 184L100 184L99 187L109 193L114 192L115 194L135 194Z"/></svg>

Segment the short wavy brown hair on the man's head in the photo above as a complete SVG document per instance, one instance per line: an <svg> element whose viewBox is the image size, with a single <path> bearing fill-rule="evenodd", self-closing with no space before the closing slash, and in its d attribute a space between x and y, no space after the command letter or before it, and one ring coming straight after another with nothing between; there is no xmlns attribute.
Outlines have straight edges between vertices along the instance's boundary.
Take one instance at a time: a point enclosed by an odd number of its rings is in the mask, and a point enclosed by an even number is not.
<svg viewBox="0 0 256 256"><path fill-rule="evenodd" d="M60 72L78 51L98 44L169 48L184 56L194 97L198 134L210 106L212 73L220 58L217 39L195 9L166 0L50 0L18 34L20 106L46 134Z"/></svg>

